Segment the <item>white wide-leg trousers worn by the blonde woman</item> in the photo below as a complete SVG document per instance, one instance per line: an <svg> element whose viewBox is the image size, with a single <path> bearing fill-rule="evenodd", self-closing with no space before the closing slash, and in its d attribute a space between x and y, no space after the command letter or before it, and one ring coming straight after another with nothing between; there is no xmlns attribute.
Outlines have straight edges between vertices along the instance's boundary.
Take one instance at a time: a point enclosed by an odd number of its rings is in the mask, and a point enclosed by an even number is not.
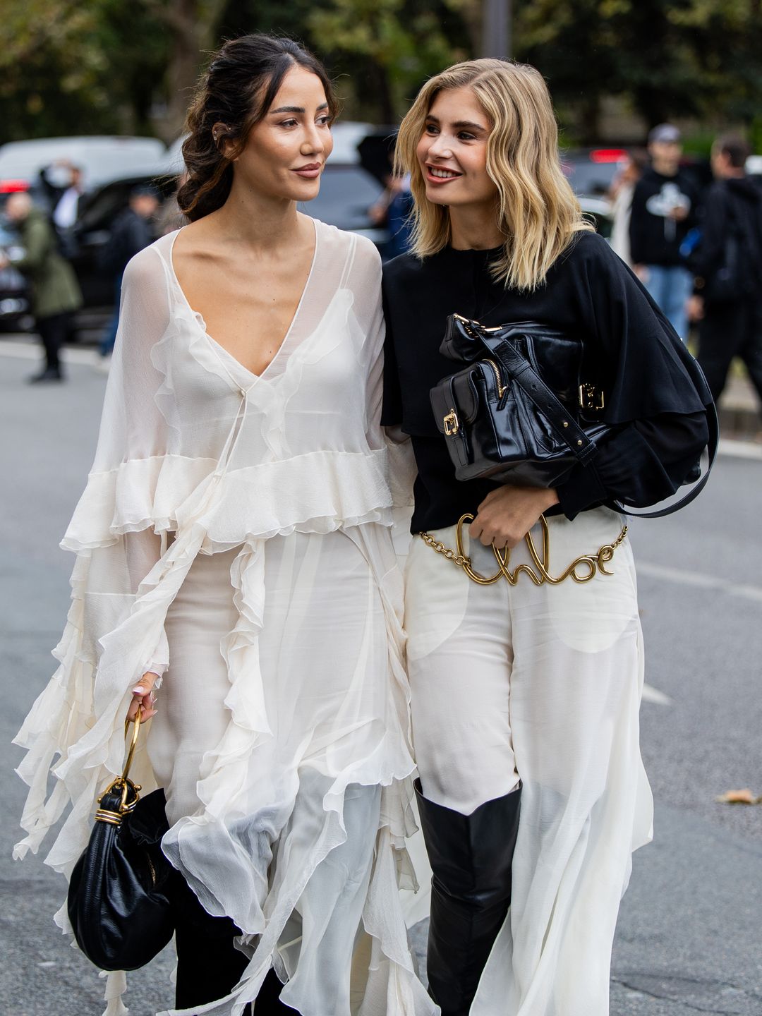
<svg viewBox="0 0 762 1016"><path fill-rule="evenodd" d="M606 508L552 517L550 572L613 543ZM532 530L542 548L539 526ZM455 547L455 527L438 530ZM466 541L472 566L496 571ZM522 543L510 567L530 558ZM412 727L424 793L463 814L521 779L511 909L471 1016L607 1016L631 853L651 837L638 743L643 651L625 539L578 584L481 586L420 538L406 567Z"/></svg>

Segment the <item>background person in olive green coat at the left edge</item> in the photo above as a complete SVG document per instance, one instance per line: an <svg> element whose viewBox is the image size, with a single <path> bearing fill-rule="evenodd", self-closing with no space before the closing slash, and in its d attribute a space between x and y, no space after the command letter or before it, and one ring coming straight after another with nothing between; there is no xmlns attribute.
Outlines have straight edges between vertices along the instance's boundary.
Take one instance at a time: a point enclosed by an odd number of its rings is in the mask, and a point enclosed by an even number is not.
<svg viewBox="0 0 762 1016"><path fill-rule="evenodd" d="M11 194L5 214L18 231L23 255L9 258L0 252L0 268L12 264L26 276L35 326L45 348L45 366L29 381L63 381L60 350L69 333L72 314L82 305L76 276L58 252L48 216L35 207L28 194Z"/></svg>

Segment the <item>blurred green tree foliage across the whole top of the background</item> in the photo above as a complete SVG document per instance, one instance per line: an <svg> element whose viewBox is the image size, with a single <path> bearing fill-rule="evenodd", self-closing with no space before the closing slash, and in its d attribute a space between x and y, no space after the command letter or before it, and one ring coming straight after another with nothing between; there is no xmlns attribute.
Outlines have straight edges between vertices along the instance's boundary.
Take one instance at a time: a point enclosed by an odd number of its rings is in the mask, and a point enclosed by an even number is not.
<svg viewBox="0 0 762 1016"><path fill-rule="evenodd" d="M762 0L522 0L515 56L546 75L580 139L601 101L648 124L746 123L762 142ZM396 120L430 74L479 53L482 0L0 0L0 143L51 134L169 140L207 52L245 31L296 37L345 115Z"/></svg>

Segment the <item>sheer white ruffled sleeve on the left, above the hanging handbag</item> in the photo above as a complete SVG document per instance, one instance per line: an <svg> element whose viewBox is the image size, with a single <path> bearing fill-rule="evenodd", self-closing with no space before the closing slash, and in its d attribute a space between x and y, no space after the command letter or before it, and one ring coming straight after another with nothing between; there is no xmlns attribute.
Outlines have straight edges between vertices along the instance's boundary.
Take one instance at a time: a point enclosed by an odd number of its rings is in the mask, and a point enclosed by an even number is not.
<svg viewBox="0 0 762 1016"><path fill-rule="evenodd" d="M169 663L163 621L158 621L144 627L132 647L129 673L122 673L118 687L112 679L107 690L100 680L109 636L130 615L166 541L140 506L149 497L142 481L151 473L150 463L161 460L170 448L168 428L155 399L163 378L151 363L151 351L169 319L164 268L148 248L125 271L96 458L61 544L76 554L76 563L66 628L54 650L59 666L15 739L27 750L18 773L29 791L21 818L27 835L14 853L23 856L29 849L37 851L48 829L72 802L74 808L48 859L66 874L84 846L87 826L82 820L90 812L97 789L120 768L120 717L132 683L147 670L161 674ZM117 520L118 503L133 504L136 510L131 517L122 510ZM101 729L102 740L87 762L74 764L78 746L87 741L94 744L94 732ZM58 779L48 797L51 769ZM142 774L138 771L137 775L141 778Z"/></svg>

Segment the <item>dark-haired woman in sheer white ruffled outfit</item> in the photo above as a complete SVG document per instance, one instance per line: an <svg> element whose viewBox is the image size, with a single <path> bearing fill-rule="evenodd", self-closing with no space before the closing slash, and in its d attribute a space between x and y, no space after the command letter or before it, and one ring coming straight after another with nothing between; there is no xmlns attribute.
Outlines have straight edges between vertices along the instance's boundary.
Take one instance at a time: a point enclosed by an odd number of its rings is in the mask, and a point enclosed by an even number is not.
<svg viewBox="0 0 762 1016"><path fill-rule="evenodd" d="M163 849L192 889L186 1013L436 1011L397 891L414 763L380 260L297 210L335 112L323 67L284 39L229 42L201 80L179 192L191 221L125 271L63 542L77 564L61 668L18 739L33 784L18 853L70 800L48 859L68 873L121 768L125 710L150 719L136 778L165 788Z"/></svg>

